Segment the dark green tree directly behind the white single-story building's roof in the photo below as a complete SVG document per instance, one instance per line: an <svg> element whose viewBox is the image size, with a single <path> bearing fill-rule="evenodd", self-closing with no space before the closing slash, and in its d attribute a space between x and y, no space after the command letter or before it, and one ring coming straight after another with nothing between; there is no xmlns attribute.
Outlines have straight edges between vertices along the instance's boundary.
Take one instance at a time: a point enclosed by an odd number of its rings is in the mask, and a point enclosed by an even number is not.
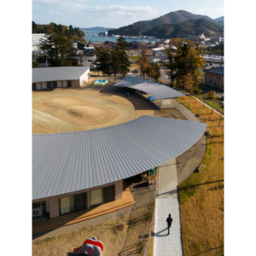
<svg viewBox="0 0 256 256"><path fill-rule="evenodd" d="M61 32L47 34L47 38L41 40L40 47L48 51L48 56L45 55L45 58L52 67L72 66L76 49Z"/></svg>

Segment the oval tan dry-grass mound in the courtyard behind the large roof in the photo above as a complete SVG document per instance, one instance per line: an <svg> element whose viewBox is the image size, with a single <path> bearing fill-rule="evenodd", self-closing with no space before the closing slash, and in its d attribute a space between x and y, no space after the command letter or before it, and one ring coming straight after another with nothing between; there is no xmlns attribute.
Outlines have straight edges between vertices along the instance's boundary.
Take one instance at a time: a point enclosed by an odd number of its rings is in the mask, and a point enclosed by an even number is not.
<svg viewBox="0 0 256 256"><path fill-rule="evenodd" d="M102 125L115 119L119 113L73 96L51 96L32 102L32 108L49 113L74 125Z"/></svg>

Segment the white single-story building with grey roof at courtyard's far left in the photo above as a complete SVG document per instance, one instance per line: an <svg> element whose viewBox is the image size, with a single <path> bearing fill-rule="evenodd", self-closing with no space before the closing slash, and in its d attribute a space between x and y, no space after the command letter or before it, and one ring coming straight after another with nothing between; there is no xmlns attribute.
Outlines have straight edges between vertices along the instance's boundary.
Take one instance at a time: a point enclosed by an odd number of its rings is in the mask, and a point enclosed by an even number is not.
<svg viewBox="0 0 256 256"><path fill-rule="evenodd" d="M32 68L32 90L81 87L90 79L90 67Z"/></svg>

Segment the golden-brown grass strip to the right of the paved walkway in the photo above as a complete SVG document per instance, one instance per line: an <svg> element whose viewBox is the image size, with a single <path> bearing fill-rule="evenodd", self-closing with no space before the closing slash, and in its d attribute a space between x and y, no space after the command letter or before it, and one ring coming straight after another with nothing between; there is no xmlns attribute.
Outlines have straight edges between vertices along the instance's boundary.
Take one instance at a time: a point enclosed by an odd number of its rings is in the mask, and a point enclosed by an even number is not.
<svg viewBox="0 0 256 256"><path fill-rule="evenodd" d="M201 121L206 119L207 131L211 132L201 161L204 168L179 185L185 187L179 192L183 255L224 255L224 126L217 127L218 113L203 108L201 102L189 96L178 101L200 113ZM189 189L192 185L195 190Z"/></svg>

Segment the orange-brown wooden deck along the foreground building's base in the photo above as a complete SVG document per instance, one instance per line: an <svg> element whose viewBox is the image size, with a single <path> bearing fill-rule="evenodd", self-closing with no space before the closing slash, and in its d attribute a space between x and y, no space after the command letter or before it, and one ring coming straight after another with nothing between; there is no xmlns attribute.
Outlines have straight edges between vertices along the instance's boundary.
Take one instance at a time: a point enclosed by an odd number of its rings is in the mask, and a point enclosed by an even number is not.
<svg viewBox="0 0 256 256"><path fill-rule="evenodd" d="M133 205L135 205L135 201L133 200L131 191L124 180L124 192L122 199L111 201L89 210L73 212L60 217L50 218L49 220L43 219L32 222L32 234L47 230L55 230L69 224L75 224L89 218L95 218Z"/></svg>

